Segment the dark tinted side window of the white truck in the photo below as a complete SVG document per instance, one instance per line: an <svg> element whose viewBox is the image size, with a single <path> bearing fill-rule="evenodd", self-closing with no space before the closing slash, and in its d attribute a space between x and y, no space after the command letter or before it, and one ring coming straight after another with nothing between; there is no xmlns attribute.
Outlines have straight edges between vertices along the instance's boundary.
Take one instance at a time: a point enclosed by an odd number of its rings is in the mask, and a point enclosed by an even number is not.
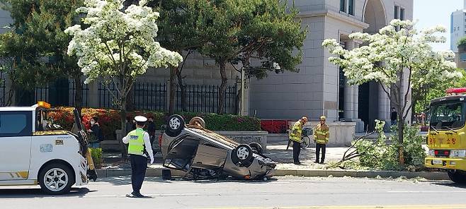
<svg viewBox="0 0 466 209"><path fill-rule="evenodd" d="M0 112L0 137L32 136L33 112Z"/></svg>

